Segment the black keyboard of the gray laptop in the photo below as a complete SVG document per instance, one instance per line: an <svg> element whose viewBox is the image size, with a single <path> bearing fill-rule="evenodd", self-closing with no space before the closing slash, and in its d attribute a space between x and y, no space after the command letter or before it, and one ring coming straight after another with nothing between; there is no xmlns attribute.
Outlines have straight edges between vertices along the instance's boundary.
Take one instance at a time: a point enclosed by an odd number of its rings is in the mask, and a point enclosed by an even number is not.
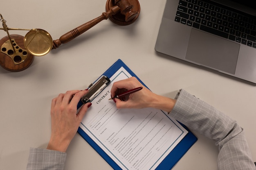
<svg viewBox="0 0 256 170"><path fill-rule="evenodd" d="M256 48L255 18L215 2L180 0L175 21Z"/></svg>

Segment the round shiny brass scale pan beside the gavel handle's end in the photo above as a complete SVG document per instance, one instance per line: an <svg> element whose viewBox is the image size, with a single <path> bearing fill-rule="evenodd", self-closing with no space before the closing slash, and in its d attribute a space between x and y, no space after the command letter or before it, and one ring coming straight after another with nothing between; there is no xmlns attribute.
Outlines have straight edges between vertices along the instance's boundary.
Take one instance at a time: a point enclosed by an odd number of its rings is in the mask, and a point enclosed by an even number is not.
<svg viewBox="0 0 256 170"><path fill-rule="evenodd" d="M36 28L25 35L24 45L30 54L42 56L52 49L53 41L47 31Z"/></svg>

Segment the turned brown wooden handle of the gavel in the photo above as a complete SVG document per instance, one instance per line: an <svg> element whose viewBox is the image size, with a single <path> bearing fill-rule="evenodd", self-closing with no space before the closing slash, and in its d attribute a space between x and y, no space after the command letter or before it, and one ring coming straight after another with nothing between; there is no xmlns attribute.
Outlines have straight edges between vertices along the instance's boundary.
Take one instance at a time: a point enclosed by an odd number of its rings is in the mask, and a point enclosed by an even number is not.
<svg viewBox="0 0 256 170"><path fill-rule="evenodd" d="M97 17L97 18L95 18L95 19L93 19L89 22L86 22L85 24L83 24L81 26L78 26L78 27L74 28L73 30L65 33L64 35L62 35L60 37L60 39L54 40L52 48L56 49L61 44L65 44L65 43L71 41L75 37L81 35L85 31L87 31L88 29L92 28L93 26L95 26L96 24L101 22L102 20L107 20L110 15L117 14L119 11L120 11L120 8L117 5L110 8L109 11L102 13L101 16L99 16L99 17Z"/></svg>

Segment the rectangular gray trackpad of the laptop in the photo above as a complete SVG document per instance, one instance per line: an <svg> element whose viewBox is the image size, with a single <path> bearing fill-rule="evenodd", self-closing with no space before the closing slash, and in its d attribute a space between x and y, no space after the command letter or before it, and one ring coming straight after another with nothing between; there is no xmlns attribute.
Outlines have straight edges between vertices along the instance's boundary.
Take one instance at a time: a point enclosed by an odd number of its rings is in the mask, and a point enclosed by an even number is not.
<svg viewBox="0 0 256 170"><path fill-rule="evenodd" d="M240 44L192 29L186 59L235 74Z"/></svg>

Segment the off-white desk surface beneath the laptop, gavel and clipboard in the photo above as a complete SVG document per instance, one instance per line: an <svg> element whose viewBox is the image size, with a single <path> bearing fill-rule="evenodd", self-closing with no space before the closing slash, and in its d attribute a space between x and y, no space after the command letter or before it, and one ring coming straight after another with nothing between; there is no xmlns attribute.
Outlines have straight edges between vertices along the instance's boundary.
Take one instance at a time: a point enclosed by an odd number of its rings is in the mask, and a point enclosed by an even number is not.
<svg viewBox="0 0 256 170"><path fill-rule="evenodd" d="M155 93L174 97L184 88L238 121L256 161L256 85L155 52L165 0L140 0L138 20L118 26L103 20L22 72L0 67L0 170L25 169L29 147L47 146L52 98L85 89L117 59ZM9 28L41 28L59 39L64 33L105 11L106 0L4 0L0 13ZM27 31L9 31L25 36ZM6 32L0 30L0 38ZM92 106L93 107L93 106ZM173 170L216 170L218 147L194 133L198 141ZM67 150L66 170L112 169L76 134Z"/></svg>

